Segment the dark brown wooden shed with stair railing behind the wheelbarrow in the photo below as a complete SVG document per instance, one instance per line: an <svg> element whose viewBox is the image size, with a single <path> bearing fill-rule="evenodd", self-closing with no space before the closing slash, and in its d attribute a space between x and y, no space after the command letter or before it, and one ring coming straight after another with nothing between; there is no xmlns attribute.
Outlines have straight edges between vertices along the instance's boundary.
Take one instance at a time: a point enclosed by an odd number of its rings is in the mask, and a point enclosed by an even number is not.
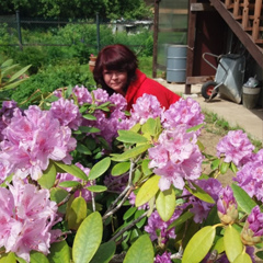
<svg viewBox="0 0 263 263"><path fill-rule="evenodd" d="M167 66L163 62L160 65L160 59L158 59L158 53L160 53L159 36L163 31L159 24L159 18L163 12L162 7L165 1L169 2L169 0L155 1L153 77L157 69L164 69L163 67ZM191 93L192 84L203 83L215 77L215 69L203 59L205 53L218 56L228 53L243 54L247 60L245 75L256 75L262 80L262 0L181 0L181 3L186 4L186 7L183 5L183 10L170 9L168 12L185 13L187 18L186 28L174 26L164 30L171 33L186 32L186 94ZM216 66L216 57L211 57L210 62Z"/></svg>

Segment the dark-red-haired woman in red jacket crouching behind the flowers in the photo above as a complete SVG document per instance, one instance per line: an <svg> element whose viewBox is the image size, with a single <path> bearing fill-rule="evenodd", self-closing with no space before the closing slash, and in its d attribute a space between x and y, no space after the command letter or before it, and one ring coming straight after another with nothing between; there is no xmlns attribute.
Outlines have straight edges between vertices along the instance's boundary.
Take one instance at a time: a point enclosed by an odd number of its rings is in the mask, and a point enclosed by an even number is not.
<svg viewBox="0 0 263 263"><path fill-rule="evenodd" d="M128 111L145 93L157 96L161 106L165 108L180 100L178 94L147 78L138 69L136 55L121 44L106 46L99 53L93 77L110 94L117 92L124 95Z"/></svg>

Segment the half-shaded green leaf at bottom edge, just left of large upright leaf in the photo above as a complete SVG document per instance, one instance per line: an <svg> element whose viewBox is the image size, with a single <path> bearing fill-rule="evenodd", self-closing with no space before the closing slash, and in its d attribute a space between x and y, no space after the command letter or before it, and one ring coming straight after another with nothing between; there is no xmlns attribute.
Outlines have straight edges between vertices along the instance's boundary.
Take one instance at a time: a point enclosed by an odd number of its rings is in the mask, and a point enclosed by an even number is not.
<svg viewBox="0 0 263 263"><path fill-rule="evenodd" d="M49 263L70 263L70 249L68 243L62 240L50 245L50 253L47 255Z"/></svg>

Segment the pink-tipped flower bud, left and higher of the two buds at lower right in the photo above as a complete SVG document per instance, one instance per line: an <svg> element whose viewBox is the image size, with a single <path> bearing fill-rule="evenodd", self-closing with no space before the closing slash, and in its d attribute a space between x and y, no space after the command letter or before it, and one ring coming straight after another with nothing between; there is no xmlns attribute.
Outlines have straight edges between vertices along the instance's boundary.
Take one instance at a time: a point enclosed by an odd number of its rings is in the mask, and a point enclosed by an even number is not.
<svg viewBox="0 0 263 263"><path fill-rule="evenodd" d="M233 224L238 218L238 204L229 186L222 188L219 193L217 214L220 221L225 225Z"/></svg>

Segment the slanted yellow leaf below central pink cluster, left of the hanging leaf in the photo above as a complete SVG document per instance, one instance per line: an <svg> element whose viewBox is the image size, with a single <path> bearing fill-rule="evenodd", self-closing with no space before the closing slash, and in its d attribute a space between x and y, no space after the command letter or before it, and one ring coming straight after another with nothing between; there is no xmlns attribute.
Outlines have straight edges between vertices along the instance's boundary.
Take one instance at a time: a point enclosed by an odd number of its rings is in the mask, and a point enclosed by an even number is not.
<svg viewBox="0 0 263 263"><path fill-rule="evenodd" d="M137 207L146 204L150 201L159 190L158 183L161 176L153 175L152 178L148 179L142 186L140 187L138 194L136 195L135 205Z"/></svg>

